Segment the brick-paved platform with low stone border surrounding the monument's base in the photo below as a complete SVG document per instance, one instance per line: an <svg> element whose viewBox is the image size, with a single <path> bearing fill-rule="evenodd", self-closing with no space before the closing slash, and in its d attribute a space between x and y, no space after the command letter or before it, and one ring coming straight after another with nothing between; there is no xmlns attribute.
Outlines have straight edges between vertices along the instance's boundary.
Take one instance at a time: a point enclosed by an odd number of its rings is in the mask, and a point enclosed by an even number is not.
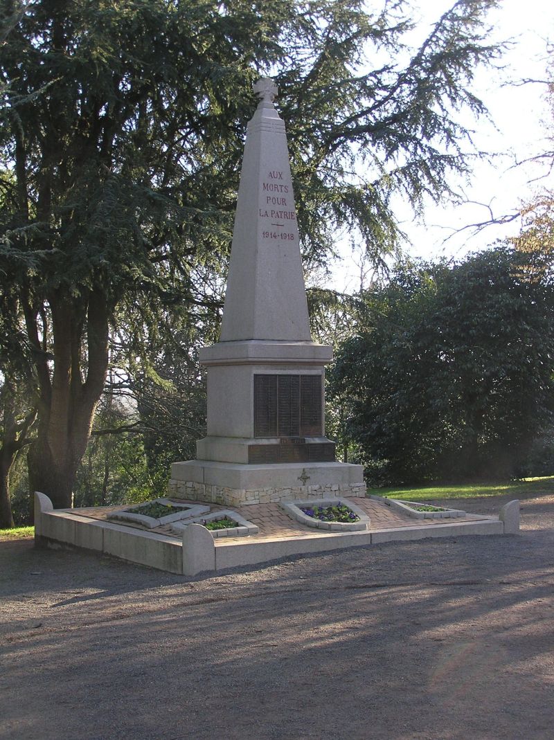
<svg viewBox="0 0 554 740"><path fill-rule="evenodd" d="M35 497L35 536L42 545L75 546L189 576L202 571L221 571L286 556L378 542L514 531L506 529L498 516L415 519L404 512L393 511L384 499L356 497L351 499L352 502L361 506L370 517L367 530L322 531L296 522L278 503L267 503L236 507L243 517L258 526L258 534L213 539L206 529L198 525L185 528L181 535L174 533L168 525L147 530L141 525L108 519L110 511L124 506L54 511L52 502L44 494L36 494ZM314 503L317 500L314 499ZM213 512L229 508L223 505L210 507ZM506 512L502 512L501 519L505 516ZM518 508L515 517L518 519Z"/></svg>

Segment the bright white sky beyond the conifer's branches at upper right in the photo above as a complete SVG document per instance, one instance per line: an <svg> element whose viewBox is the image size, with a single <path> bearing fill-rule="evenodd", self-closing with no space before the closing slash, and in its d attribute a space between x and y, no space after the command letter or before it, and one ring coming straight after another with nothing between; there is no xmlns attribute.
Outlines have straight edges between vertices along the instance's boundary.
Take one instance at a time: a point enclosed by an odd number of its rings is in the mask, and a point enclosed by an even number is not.
<svg viewBox="0 0 554 740"><path fill-rule="evenodd" d="M420 0L419 4L414 3L419 7L421 24L433 23L452 4L453 0ZM458 181L458 188L463 189L467 203L459 206L427 203L425 223L414 221L413 214L398 202L396 215L410 239L404 249L413 258L463 258L469 252L487 248L495 240L515 235L518 222L488 226L478 234L473 233L470 224L489 217L487 205L490 205L495 218L514 212L522 201L531 198L533 191L545 183L544 179L536 180L544 175L544 167L538 169L536 164L513 166L515 161L522 161L545 149L544 124L548 117L545 87L541 84L513 86L507 83L523 78L544 80L547 42L554 42L554 2L501 0L500 7L489 13L487 20L494 27L492 40L511 39L513 47L503 55L505 68L502 72L478 71L475 75L473 90L489 109L493 124L484 119L467 119L465 122L475 129L476 147L494 152L496 156L492 162L475 163L469 185ZM346 243L339 251L341 259L333 266L333 287L344 292L356 291L360 287L359 255L353 254Z"/></svg>

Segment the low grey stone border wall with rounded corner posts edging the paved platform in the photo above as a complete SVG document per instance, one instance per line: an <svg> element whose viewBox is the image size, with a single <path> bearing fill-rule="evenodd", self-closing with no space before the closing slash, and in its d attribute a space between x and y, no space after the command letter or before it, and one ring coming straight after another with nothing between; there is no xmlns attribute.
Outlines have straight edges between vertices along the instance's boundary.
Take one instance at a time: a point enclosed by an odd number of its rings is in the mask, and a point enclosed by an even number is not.
<svg viewBox="0 0 554 740"><path fill-rule="evenodd" d="M186 485L186 484L183 484ZM305 496L306 488L298 490ZM315 488L315 487L312 487ZM323 488L323 487L322 487ZM297 489L291 489L297 490ZM312 491L313 498L321 498ZM189 494L187 494L189 495ZM355 494L350 494L353 496ZM358 494L361 495L361 494ZM349 503L352 505L352 502ZM76 510L79 511L79 510ZM219 571L244 565L256 565L281 557L315 554L331 550L376 545L396 540L450 537L463 534L517 534L519 502L510 501L501 508L500 519L482 517L479 520L449 524L394 527L378 531L312 533L300 536L270 536L237 542L223 538L215 546L210 531L199 524L184 528L182 541L164 534L143 531L127 525L112 524L100 519L79 516L73 510L53 510L44 494L35 494L35 541L37 545L58 548L70 546L119 557L170 573L196 576L204 571ZM229 539L229 542L225 540Z"/></svg>

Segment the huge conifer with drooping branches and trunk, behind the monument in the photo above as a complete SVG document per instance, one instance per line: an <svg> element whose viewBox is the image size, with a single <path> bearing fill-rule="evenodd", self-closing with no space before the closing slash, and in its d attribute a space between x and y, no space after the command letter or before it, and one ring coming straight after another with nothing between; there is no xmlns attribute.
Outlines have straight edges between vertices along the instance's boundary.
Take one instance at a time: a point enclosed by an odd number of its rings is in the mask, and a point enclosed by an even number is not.
<svg viewBox="0 0 554 740"><path fill-rule="evenodd" d="M121 317L141 337L173 310L217 323L258 75L281 89L307 264L342 226L377 261L390 195L417 209L467 171L457 112L484 112L495 4L455 1L410 52L404 1L4 2L0 342L33 357L32 488L70 504Z"/></svg>

